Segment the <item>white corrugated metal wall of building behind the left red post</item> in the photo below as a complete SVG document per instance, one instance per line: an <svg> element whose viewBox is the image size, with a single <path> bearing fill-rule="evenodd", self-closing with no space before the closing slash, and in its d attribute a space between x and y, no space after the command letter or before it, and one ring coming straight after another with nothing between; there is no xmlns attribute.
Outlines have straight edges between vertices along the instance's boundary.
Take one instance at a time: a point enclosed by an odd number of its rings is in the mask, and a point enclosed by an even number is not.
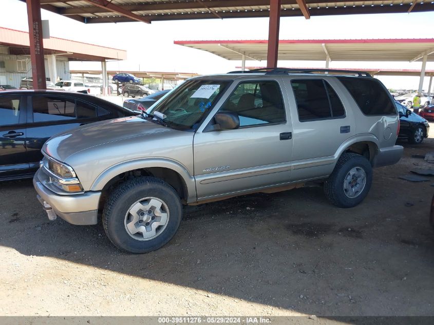
<svg viewBox="0 0 434 325"><path fill-rule="evenodd" d="M0 65L0 83L3 83L6 78L6 84L20 88L20 81L23 78L32 77L32 67L30 63L30 56L27 55L10 55L7 46L0 46L0 62L5 60L25 60L27 61L27 72L6 72L4 64ZM67 58L62 56L56 57L57 73L59 78L63 80L70 80L71 74L69 73L69 62ZM48 60L45 59L45 74L47 78L48 73Z"/></svg>

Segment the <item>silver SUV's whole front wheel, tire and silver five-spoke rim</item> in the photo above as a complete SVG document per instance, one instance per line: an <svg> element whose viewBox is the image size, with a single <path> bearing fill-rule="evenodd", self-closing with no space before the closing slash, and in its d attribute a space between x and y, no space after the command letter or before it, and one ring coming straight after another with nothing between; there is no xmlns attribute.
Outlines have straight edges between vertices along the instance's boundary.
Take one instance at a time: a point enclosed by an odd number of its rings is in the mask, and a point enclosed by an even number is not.
<svg viewBox="0 0 434 325"><path fill-rule="evenodd" d="M182 206L175 189L154 177L119 185L103 211L107 237L121 250L147 253L165 245L178 230Z"/></svg>

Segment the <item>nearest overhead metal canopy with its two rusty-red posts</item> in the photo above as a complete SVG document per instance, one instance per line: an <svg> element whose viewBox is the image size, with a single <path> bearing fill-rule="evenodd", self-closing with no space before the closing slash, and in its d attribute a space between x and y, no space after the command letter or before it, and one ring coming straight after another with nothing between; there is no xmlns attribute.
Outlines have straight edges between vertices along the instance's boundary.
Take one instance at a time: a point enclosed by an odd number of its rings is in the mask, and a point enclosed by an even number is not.
<svg viewBox="0 0 434 325"><path fill-rule="evenodd" d="M27 4L34 89L45 89L41 8L82 23L269 17L267 65L277 66L280 17L434 11L434 1L414 0L21 0ZM103 68L104 70L104 68Z"/></svg>

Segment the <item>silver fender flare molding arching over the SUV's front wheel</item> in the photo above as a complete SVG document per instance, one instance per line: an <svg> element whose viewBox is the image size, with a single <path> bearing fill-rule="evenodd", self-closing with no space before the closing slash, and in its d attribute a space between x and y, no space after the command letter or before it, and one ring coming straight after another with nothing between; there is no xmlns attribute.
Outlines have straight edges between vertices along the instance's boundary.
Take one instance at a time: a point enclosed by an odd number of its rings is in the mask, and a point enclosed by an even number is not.
<svg viewBox="0 0 434 325"><path fill-rule="evenodd" d="M179 162L167 158L144 158L125 161L120 164L109 167L104 170L92 183L90 190L99 191L102 190L104 185L107 184L112 178L125 173L129 170L162 167L176 171L184 180L188 191L187 203L196 202L196 185L194 177L188 173L188 170Z"/></svg>

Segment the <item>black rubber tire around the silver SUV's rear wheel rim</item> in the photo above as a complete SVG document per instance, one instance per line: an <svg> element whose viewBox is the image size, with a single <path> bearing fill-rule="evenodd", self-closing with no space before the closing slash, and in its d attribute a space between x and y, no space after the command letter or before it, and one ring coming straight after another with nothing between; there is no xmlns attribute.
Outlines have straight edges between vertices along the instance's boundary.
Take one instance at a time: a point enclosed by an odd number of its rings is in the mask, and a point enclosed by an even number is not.
<svg viewBox="0 0 434 325"><path fill-rule="evenodd" d="M355 197L349 197L344 190L344 181L349 171L361 168L365 172L366 182L364 188ZM352 152L345 152L339 157L333 172L324 183L324 192L331 203L338 207L353 207L361 203L368 195L372 185L372 166L365 157Z"/></svg>

